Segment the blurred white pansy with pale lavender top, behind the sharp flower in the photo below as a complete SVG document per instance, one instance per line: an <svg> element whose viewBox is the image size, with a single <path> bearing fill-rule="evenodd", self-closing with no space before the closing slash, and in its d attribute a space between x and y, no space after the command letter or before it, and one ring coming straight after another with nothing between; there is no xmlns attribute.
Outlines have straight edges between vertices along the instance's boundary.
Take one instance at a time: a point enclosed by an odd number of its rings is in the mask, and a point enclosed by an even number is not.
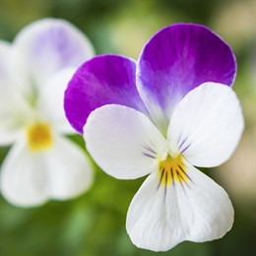
<svg viewBox="0 0 256 256"><path fill-rule="evenodd" d="M14 144L1 166L1 193L30 207L73 198L88 189L93 167L64 137L64 90L75 69L93 56L88 38L63 20L36 21L12 44L1 41L0 145Z"/></svg>

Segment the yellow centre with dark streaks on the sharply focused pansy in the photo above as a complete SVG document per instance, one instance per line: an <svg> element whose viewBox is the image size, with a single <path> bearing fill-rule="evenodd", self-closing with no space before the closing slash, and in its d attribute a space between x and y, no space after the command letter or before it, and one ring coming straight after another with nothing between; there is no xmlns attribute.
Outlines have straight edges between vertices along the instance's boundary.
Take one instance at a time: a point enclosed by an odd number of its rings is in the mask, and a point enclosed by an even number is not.
<svg viewBox="0 0 256 256"><path fill-rule="evenodd" d="M160 185L166 186L174 182L187 182L186 166L181 155L171 158L169 155L165 160L159 162Z"/></svg>

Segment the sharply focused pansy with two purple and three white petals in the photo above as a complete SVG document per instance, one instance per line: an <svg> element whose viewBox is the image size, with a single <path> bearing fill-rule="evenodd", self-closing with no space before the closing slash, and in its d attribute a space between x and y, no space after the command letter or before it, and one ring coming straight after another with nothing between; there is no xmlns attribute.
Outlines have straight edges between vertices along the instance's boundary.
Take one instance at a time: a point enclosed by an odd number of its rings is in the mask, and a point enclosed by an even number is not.
<svg viewBox="0 0 256 256"><path fill-rule="evenodd" d="M66 115L109 175L148 175L126 228L140 248L223 237L233 223L224 189L197 167L228 160L243 130L229 46L204 26L157 32L136 63L102 55L82 65L65 93ZM197 166L197 167L195 167Z"/></svg>

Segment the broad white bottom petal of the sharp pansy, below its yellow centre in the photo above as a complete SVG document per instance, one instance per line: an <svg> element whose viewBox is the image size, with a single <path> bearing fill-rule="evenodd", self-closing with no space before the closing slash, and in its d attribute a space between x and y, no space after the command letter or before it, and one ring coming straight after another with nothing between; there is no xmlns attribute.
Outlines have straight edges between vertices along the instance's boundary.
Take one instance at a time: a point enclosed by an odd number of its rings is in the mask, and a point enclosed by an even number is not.
<svg viewBox="0 0 256 256"><path fill-rule="evenodd" d="M184 241L221 238L233 223L233 208L224 189L192 165L192 182L159 186L158 173L143 183L129 207L126 221L132 242L165 251Z"/></svg>

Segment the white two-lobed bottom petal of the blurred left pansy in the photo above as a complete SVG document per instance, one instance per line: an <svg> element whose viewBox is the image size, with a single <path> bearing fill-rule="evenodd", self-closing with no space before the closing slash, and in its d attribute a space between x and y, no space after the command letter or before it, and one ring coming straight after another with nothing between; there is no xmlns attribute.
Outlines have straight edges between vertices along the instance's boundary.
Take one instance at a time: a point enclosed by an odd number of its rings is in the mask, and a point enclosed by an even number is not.
<svg viewBox="0 0 256 256"><path fill-rule="evenodd" d="M1 192L13 205L37 206L47 199L73 198L93 181L93 169L77 145L54 136L45 151L32 152L22 137L1 167Z"/></svg>

